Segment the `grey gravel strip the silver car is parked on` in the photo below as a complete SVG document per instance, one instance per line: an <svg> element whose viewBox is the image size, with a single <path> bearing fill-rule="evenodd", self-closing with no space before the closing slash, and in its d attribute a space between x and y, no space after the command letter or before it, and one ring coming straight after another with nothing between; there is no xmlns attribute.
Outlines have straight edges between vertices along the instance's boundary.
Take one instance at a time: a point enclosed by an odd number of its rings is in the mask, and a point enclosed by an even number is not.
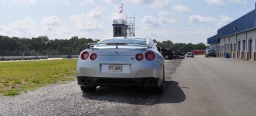
<svg viewBox="0 0 256 116"><path fill-rule="evenodd" d="M166 85L180 62L165 61ZM72 81L1 96L0 115L149 115L159 96L138 87L98 87L94 93L83 93Z"/></svg>

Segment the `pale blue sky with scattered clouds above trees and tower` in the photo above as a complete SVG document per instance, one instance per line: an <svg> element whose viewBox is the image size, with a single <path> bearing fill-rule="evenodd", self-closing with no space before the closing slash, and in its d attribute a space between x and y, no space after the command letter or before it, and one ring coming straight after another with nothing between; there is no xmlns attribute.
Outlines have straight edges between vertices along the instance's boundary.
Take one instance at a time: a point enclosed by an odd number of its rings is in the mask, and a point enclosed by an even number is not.
<svg viewBox="0 0 256 116"><path fill-rule="evenodd" d="M0 35L50 40L113 37L113 20L135 17L138 37L207 43L255 10L253 0L0 0ZM123 3L123 13L120 5Z"/></svg>

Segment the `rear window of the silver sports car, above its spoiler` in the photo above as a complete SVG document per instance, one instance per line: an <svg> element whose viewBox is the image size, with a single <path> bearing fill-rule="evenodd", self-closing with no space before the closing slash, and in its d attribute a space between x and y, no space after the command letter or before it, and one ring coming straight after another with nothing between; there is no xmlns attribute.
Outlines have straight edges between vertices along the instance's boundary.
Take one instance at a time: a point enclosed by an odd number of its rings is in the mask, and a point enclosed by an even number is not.
<svg viewBox="0 0 256 116"><path fill-rule="evenodd" d="M147 44L147 41L145 39L140 38L111 38L99 41L98 43Z"/></svg>

